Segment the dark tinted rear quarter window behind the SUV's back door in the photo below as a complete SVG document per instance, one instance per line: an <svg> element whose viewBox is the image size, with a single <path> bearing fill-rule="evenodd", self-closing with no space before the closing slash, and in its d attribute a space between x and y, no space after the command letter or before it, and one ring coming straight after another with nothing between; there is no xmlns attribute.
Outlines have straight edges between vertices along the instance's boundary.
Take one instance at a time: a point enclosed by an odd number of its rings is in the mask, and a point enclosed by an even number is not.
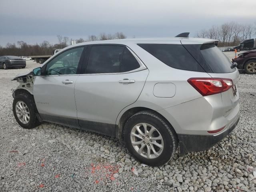
<svg viewBox="0 0 256 192"><path fill-rule="evenodd" d="M182 70L205 72L198 62L182 45L175 44L138 44L164 64Z"/></svg>

